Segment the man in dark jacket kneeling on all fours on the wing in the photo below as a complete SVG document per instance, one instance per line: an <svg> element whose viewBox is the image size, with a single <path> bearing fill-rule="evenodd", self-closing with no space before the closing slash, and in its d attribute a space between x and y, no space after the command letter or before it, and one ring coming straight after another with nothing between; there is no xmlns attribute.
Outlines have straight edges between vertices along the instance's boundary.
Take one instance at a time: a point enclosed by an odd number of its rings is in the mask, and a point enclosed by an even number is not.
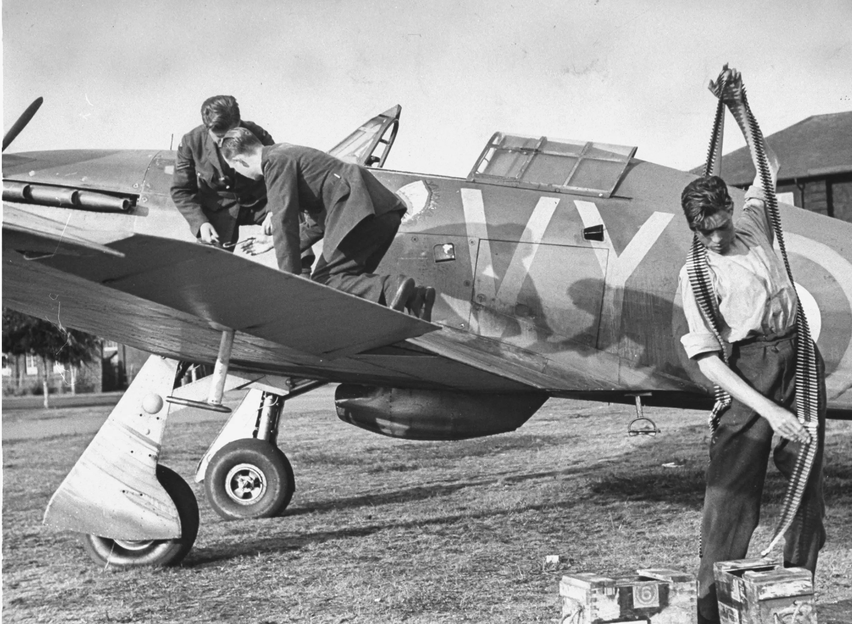
<svg viewBox="0 0 852 624"><path fill-rule="evenodd" d="M222 156L245 177L265 180L264 230L272 234L281 271L302 272L301 252L323 238L323 254L311 276L315 282L430 318L435 289L417 287L402 275L373 274L406 207L369 171L312 147L264 147L242 128L225 135Z"/></svg>

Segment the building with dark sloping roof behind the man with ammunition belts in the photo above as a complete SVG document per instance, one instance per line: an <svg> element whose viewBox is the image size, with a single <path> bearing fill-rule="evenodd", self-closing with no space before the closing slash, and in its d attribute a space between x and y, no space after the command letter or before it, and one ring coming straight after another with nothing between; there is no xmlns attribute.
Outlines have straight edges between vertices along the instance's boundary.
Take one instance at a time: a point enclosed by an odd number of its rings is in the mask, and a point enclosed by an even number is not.
<svg viewBox="0 0 852 624"><path fill-rule="evenodd" d="M808 117L766 141L781 163L781 201L852 222L852 111ZM746 188L754 176L748 146L722 157L722 178L729 185Z"/></svg>

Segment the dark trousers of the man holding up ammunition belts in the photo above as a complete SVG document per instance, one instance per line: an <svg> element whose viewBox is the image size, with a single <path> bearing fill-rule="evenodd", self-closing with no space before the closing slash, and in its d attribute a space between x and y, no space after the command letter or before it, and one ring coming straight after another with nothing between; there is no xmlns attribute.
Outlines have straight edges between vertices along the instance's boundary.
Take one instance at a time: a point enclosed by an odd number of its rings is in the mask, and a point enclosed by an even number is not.
<svg viewBox="0 0 852 624"><path fill-rule="evenodd" d="M820 421L818 446L802 505L786 532L786 567L816 570L816 558L826 541L822 519L822 452L826 431L826 385L820 367ZM795 413L796 337L735 343L731 368L757 392ZM710 442L710 466L701 526L704 554L699 566L699 615L718 621L713 564L746 557L751 534L760 520L760 499L772 445L772 427L757 413L734 399L722 415ZM800 444L781 439L774 450L778 470L790 478ZM766 536L769 541L769 535Z"/></svg>

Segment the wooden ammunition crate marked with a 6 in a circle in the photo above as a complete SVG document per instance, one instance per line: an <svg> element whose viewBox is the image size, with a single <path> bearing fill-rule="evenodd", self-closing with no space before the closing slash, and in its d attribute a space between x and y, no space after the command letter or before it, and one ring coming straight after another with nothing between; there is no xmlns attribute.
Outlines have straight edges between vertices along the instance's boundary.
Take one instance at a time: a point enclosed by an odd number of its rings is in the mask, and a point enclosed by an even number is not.
<svg viewBox="0 0 852 624"><path fill-rule="evenodd" d="M636 570L610 578L591 573L562 576L564 624L695 624L698 587L694 575L676 570Z"/></svg>

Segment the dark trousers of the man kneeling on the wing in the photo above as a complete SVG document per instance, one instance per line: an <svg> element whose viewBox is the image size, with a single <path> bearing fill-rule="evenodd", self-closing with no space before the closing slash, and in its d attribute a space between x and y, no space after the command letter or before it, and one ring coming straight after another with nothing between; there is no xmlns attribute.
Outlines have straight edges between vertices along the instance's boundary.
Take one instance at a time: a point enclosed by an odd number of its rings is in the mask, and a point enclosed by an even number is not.
<svg viewBox="0 0 852 624"><path fill-rule="evenodd" d="M401 221L401 212L367 217L354 226L337 249L331 249L331 253L323 250L311 279L387 306L405 276L373 272L394 242Z"/></svg>

